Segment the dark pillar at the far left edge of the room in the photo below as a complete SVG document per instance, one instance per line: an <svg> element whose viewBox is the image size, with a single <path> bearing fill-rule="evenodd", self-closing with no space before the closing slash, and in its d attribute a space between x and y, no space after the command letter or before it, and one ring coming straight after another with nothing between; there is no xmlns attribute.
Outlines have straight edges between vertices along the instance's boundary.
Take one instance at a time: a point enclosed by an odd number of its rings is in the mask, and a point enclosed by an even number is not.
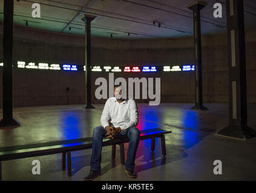
<svg viewBox="0 0 256 193"><path fill-rule="evenodd" d="M18 127L13 119L13 0L4 0L4 66L2 72L2 114L0 127Z"/></svg>

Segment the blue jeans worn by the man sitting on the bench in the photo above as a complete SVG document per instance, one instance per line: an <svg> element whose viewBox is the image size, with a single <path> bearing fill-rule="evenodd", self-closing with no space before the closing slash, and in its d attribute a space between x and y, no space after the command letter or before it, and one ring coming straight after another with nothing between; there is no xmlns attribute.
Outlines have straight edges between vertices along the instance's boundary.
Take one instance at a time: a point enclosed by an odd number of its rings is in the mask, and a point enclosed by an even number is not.
<svg viewBox="0 0 256 193"><path fill-rule="evenodd" d="M91 171L99 171L101 162L102 139L106 137L107 131L103 126L93 129L93 152L91 154ZM125 131L118 133L114 138L129 139L127 159L125 162L126 169L134 169L136 151L139 145L140 130L137 127L127 128Z"/></svg>

